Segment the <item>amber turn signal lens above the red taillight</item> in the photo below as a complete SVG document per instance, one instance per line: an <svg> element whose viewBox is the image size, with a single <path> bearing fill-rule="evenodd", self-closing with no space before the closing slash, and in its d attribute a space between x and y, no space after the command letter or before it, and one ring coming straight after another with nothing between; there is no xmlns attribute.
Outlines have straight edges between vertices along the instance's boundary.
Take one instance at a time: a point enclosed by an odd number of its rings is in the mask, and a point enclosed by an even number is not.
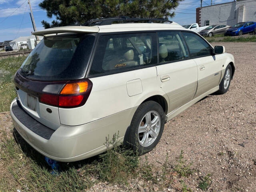
<svg viewBox="0 0 256 192"><path fill-rule="evenodd" d="M86 92L88 88L88 82L78 82L66 84L60 94L78 94Z"/></svg>

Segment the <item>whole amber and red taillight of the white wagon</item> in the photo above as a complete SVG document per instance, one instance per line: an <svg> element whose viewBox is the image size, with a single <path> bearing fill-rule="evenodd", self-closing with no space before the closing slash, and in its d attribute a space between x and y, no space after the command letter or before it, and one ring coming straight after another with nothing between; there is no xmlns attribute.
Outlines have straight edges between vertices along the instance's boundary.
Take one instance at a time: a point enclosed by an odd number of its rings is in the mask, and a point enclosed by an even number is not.
<svg viewBox="0 0 256 192"><path fill-rule="evenodd" d="M92 90L92 82L88 79L69 81L59 91L59 94L41 94L41 103L61 108L74 108L82 106L88 99Z"/></svg>

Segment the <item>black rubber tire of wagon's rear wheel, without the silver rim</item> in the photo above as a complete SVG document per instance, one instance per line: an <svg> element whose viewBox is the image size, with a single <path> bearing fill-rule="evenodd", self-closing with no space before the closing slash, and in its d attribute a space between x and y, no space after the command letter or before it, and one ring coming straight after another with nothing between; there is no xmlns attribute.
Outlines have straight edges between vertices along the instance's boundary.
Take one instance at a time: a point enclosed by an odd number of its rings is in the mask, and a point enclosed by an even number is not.
<svg viewBox="0 0 256 192"><path fill-rule="evenodd" d="M154 140L154 142L147 147L143 147L140 145L139 141L138 141L138 128L140 125L140 122L142 120L142 118L146 115L147 112L149 111L156 111L159 116L160 116L160 120L161 120L161 126L160 126L160 130L158 133L158 136L156 138L156 140ZM138 154L145 154L149 151L151 151L159 142L163 130L164 130L164 123L165 123L165 114L164 111L162 109L162 107L160 106L160 104L158 104L157 102L154 101L147 101L142 103L138 109L136 110L136 112L134 113L134 116L132 118L132 122L130 125L130 146L133 148L133 150L135 152L138 152Z"/></svg>

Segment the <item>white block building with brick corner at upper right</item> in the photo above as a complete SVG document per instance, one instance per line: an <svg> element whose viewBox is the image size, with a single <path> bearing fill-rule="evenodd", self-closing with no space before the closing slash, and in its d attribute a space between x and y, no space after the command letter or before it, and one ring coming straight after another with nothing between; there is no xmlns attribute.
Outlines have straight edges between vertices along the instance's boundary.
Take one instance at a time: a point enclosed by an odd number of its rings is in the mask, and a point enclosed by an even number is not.
<svg viewBox="0 0 256 192"><path fill-rule="evenodd" d="M233 2L196 8L196 22L200 26L256 21L256 0Z"/></svg>

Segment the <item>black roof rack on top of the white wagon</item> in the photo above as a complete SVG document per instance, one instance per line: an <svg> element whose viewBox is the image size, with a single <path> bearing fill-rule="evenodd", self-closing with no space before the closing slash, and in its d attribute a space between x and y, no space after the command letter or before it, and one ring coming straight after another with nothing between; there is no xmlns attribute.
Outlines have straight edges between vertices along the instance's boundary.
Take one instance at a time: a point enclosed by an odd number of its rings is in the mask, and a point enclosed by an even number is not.
<svg viewBox="0 0 256 192"><path fill-rule="evenodd" d="M147 21L148 23L158 21L158 22L168 22L172 23L164 18L130 18L129 16L119 16L119 17L108 17L102 18L97 20L91 20L83 24L83 26L95 26L95 25L111 25L113 22L122 21L124 23L128 22L140 22L140 21Z"/></svg>

